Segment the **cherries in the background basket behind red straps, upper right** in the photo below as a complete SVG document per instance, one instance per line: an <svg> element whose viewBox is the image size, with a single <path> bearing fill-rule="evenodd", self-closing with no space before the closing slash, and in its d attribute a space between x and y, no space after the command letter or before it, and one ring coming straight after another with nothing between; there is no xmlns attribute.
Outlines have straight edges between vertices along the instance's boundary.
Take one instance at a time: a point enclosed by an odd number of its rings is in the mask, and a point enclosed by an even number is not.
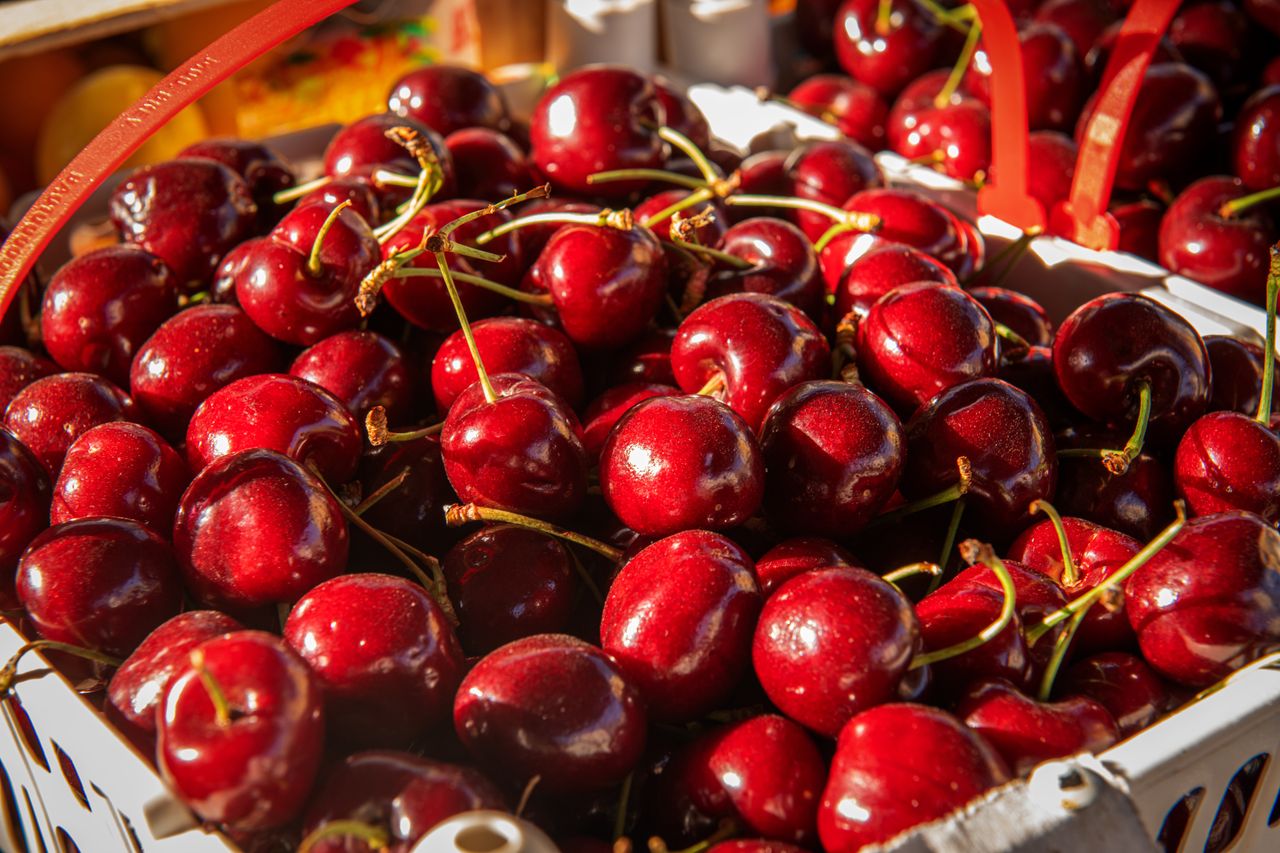
<svg viewBox="0 0 1280 853"><path fill-rule="evenodd" d="M991 61L972 5L799 4L829 70L786 96L870 150L955 178L991 169ZM1129 0L1012 0L1025 73L1029 191L1066 199ZM838 70L844 73L838 73ZM1110 213L1119 248L1261 305L1280 238L1280 6L1183 4L1142 78Z"/></svg>

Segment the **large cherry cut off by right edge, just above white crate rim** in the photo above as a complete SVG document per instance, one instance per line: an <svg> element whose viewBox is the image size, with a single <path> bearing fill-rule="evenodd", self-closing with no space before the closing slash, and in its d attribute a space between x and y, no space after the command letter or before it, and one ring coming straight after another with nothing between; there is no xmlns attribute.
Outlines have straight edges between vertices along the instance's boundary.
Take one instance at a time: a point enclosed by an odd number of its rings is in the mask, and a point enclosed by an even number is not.
<svg viewBox="0 0 1280 853"><path fill-rule="evenodd" d="M1249 512L1192 519L1125 581L1142 656L1202 688L1280 646L1280 533Z"/></svg>

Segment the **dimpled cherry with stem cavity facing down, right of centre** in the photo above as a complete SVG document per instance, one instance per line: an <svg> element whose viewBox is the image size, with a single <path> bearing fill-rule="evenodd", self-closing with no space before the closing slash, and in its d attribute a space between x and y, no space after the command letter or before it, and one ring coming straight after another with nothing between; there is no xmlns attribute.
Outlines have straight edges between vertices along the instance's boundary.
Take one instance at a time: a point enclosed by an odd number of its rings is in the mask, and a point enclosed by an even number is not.
<svg viewBox="0 0 1280 853"><path fill-rule="evenodd" d="M829 369L831 348L804 311L764 293L731 293L694 310L671 347L676 382L694 392L716 377L723 400L759 429L782 392Z"/></svg>

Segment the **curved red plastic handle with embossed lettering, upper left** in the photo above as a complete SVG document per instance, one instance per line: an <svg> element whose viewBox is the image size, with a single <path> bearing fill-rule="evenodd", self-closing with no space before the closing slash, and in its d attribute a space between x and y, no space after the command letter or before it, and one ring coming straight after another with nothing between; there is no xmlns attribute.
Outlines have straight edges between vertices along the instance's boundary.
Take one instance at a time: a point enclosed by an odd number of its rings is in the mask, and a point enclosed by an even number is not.
<svg viewBox="0 0 1280 853"><path fill-rule="evenodd" d="M120 113L54 178L0 246L0 316L54 234L147 137L253 59L352 3L278 0L179 65Z"/></svg>

